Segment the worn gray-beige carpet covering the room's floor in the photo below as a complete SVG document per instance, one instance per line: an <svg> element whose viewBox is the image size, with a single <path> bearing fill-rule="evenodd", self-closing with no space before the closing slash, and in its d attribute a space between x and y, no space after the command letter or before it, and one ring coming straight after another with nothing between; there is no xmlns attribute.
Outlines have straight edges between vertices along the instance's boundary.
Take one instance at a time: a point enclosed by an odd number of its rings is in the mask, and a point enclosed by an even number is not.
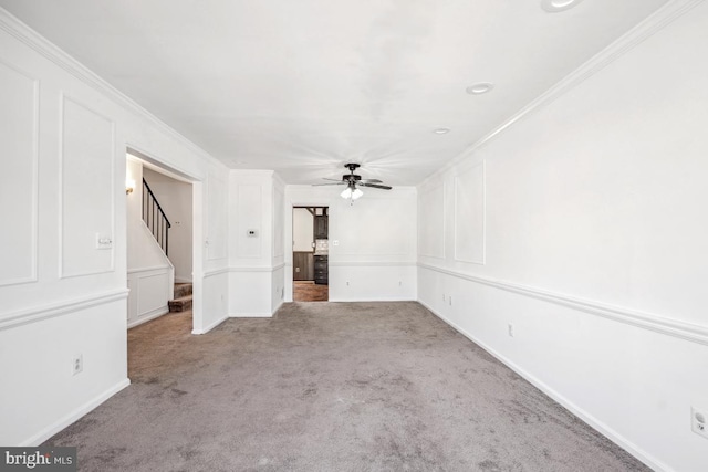
<svg viewBox="0 0 708 472"><path fill-rule="evenodd" d="M82 471L646 471L430 314L289 303L131 329L133 384L46 442Z"/></svg>

